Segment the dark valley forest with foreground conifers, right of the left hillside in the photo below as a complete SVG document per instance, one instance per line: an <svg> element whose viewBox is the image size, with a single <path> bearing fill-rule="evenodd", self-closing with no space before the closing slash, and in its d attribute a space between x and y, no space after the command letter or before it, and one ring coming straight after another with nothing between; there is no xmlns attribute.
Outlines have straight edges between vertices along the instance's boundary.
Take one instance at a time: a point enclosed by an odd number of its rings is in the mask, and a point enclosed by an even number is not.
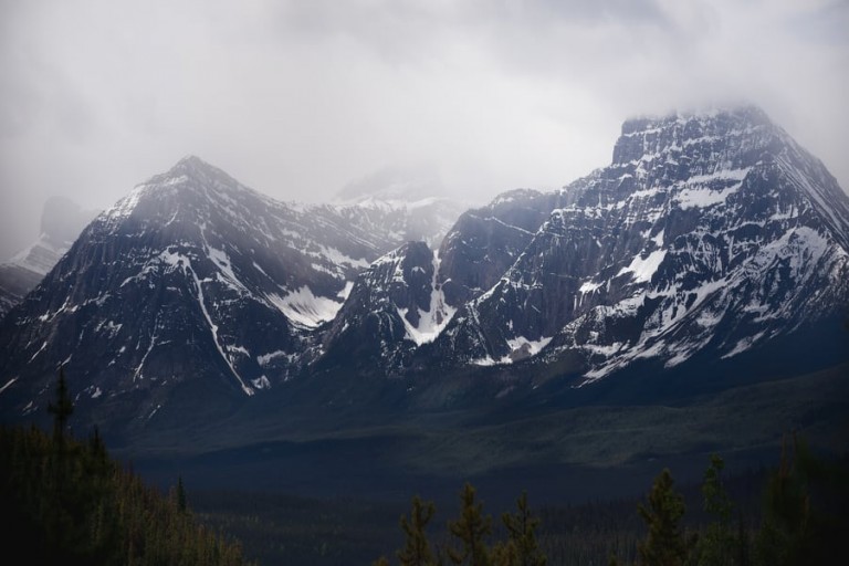
<svg viewBox="0 0 849 566"><path fill-rule="evenodd" d="M632 497L567 505L522 493L502 507L490 495L467 483L450 502L412 496L406 506L268 492L193 499L261 564L789 566L830 563L849 532L849 459L816 457L790 436L773 467L726 478L713 457L700 483L661 470Z"/></svg>

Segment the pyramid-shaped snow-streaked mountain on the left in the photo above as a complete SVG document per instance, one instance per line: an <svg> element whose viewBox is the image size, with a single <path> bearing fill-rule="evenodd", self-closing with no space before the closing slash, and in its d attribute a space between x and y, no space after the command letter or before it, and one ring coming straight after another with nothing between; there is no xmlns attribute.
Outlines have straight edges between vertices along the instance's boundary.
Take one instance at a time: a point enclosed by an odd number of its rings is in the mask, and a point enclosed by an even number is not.
<svg viewBox="0 0 849 566"><path fill-rule="evenodd" d="M99 214L10 312L2 401L43 407L64 364L101 419L140 424L175 399L220 413L301 370L402 228L356 206L277 202L185 158Z"/></svg>

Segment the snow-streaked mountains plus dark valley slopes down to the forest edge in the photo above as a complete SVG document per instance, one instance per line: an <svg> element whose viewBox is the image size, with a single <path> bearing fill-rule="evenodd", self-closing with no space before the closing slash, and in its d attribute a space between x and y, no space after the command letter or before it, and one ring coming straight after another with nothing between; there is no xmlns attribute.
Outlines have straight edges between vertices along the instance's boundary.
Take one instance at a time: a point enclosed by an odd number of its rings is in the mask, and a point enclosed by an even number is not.
<svg viewBox="0 0 849 566"><path fill-rule="evenodd" d="M629 119L609 166L473 209L279 202L187 157L4 316L0 408L46 423L61 366L75 427L192 485L643 485L792 429L841 450L848 308L849 197L754 106Z"/></svg>

